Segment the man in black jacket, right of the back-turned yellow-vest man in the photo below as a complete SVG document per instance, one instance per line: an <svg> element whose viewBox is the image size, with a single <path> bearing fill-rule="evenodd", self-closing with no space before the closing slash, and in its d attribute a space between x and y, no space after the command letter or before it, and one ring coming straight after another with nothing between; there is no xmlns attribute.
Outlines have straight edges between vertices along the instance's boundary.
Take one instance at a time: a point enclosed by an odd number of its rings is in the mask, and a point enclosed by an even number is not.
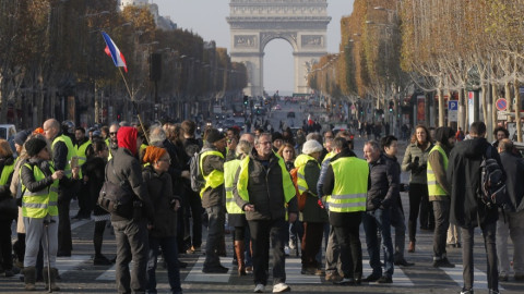
<svg viewBox="0 0 524 294"><path fill-rule="evenodd" d="M371 185L366 201L366 213L362 224L366 231L368 245L369 265L373 272L366 278L369 282L393 282L393 243L391 241L391 207L395 204L398 195L401 174L393 162L386 160L380 152L380 146L376 140L369 140L364 146L364 157L369 163ZM381 234L382 247L384 248L384 270L380 265L380 244L377 233Z"/></svg>

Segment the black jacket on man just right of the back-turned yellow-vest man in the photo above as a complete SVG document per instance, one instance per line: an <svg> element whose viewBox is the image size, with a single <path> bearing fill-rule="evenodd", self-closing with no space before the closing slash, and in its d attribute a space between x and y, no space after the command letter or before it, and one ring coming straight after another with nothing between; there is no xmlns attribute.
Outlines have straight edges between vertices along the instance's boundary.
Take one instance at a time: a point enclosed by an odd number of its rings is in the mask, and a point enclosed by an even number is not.
<svg viewBox="0 0 524 294"><path fill-rule="evenodd" d="M401 173L392 160L380 155L379 159L369 163L371 185L366 198L366 210L388 209L397 201Z"/></svg>

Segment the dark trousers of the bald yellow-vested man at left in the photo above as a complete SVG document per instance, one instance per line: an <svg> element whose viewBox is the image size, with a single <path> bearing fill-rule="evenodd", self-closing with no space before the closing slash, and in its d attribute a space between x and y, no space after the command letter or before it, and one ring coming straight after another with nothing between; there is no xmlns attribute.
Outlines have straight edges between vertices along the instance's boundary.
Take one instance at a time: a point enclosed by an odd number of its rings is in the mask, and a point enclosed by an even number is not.
<svg viewBox="0 0 524 294"><path fill-rule="evenodd" d="M72 191L60 186L58 194L58 253L70 255L73 249L71 238L71 220L69 219L69 206L71 204Z"/></svg>

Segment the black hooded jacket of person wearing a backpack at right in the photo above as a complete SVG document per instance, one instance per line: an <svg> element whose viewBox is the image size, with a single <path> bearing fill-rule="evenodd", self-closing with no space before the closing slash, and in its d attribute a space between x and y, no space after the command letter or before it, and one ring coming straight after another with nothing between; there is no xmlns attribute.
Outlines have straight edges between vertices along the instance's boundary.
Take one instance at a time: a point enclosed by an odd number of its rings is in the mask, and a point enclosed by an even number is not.
<svg viewBox="0 0 524 294"><path fill-rule="evenodd" d="M487 149L499 164L497 150L485 139L474 137L458 142L451 150L448 181L451 183L450 221L464 229L493 223L498 219L497 207L488 208L478 197L480 187L480 163Z"/></svg>

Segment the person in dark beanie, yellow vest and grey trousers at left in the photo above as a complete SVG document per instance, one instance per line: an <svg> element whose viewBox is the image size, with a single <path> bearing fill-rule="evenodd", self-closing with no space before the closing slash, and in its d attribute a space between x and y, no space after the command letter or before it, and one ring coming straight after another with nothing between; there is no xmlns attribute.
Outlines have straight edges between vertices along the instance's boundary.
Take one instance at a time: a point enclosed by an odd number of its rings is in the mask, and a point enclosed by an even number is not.
<svg viewBox="0 0 524 294"><path fill-rule="evenodd" d="M56 269L58 250L58 180L64 179L64 171L55 171L50 164L50 151L46 140L32 138L25 143L28 160L22 166L22 213L26 230L24 257L25 290L35 290L36 258L41 242L44 249L44 279L55 291L58 270ZM72 170L74 179L79 169ZM47 232L46 232L47 231ZM50 281L47 281L47 262L50 262Z"/></svg>

